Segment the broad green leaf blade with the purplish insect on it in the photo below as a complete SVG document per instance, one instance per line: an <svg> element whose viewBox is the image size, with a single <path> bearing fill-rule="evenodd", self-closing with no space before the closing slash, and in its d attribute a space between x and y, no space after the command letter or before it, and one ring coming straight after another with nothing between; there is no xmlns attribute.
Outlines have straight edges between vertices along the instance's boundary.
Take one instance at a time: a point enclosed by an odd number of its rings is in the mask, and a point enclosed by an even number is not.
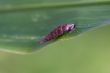
<svg viewBox="0 0 110 73"><path fill-rule="evenodd" d="M41 49L48 44L41 45L38 41L64 23L74 23L76 30L60 38L63 40L110 24L110 1L2 0L0 3L1 51L24 54Z"/></svg>

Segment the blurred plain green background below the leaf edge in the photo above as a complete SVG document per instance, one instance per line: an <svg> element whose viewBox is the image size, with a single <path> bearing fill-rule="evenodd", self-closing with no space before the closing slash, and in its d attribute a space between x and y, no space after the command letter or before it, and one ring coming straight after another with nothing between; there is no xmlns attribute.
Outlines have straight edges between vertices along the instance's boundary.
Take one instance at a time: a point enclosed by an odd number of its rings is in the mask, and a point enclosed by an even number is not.
<svg viewBox="0 0 110 73"><path fill-rule="evenodd" d="M28 55L1 52L0 73L110 73L110 26Z"/></svg>

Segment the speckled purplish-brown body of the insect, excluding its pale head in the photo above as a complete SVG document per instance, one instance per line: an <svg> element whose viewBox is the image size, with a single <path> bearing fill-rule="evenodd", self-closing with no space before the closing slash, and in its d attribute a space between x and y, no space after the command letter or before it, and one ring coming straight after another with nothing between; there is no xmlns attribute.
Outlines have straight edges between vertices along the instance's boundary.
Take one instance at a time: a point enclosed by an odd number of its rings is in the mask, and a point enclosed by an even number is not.
<svg viewBox="0 0 110 73"><path fill-rule="evenodd" d="M48 41L54 40L54 39L58 38L59 36L64 35L67 26L68 26L68 24L59 25L53 31L51 31L47 36L45 36L42 40L40 40L39 43L43 44Z"/></svg>

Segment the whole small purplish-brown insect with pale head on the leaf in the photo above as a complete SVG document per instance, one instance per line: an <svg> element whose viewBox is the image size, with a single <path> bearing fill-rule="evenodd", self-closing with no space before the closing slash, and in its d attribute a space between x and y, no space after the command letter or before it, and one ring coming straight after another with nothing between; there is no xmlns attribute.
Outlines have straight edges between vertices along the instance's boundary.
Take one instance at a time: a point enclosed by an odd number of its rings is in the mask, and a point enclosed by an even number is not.
<svg viewBox="0 0 110 73"><path fill-rule="evenodd" d="M46 35L43 39L39 41L40 44L49 42L51 40L55 40L58 37L64 35L65 33L69 33L75 30L75 24L62 24L56 27L53 31L51 31L48 35Z"/></svg>

